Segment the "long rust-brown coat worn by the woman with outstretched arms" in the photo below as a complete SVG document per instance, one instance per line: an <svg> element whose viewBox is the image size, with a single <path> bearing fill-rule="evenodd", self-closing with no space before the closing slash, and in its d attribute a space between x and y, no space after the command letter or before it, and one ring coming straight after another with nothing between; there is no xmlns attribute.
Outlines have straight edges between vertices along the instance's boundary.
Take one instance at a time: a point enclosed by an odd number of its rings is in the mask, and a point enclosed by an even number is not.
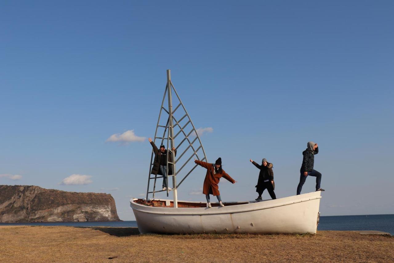
<svg viewBox="0 0 394 263"><path fill-rule="evenodd" d="M207 195L209 193L209 188L212 189L211 194L220 195L219 186L217 186L217 184L219 184L219 180L222 177L224 177L225 179L229 180L232 183L235 182L235 180L231 178L230 175L228 175L224 170L222 170L221 173L215 174L214 173L215 168L213 163L201 162L199 160L195 160L194 162L206 168L206 175L205 175L204 186L203 186L204 195Z"/></svg>

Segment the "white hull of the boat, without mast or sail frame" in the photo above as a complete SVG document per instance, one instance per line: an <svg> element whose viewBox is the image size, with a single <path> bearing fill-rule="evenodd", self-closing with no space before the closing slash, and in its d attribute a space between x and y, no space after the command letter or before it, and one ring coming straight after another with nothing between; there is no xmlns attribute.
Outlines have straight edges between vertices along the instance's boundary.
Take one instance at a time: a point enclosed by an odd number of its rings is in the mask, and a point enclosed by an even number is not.
<svg viewBox="0 0 394 263"><path fill-rule="evenodd" d="M302 234L316 233L320 198L319 191L225 207L148 207L136 203L138 199L131 199L130 206L143 234Z"/></svg>

